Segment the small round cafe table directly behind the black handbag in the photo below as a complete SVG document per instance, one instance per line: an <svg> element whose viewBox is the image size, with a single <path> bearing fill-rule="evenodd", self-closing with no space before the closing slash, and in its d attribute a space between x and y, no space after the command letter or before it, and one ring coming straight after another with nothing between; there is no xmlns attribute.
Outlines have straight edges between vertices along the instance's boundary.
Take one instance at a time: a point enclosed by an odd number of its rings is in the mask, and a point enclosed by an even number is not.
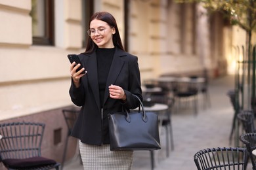
<svg viewBox="0 0 256 170"><path fill-rule="evenodd" d="M135 109L139 110L139 108ZM144 106L145 112L156 112L158 114L158 119L159 119L159 134L161 134L161 126L163 122L163 118L165 116L165 113L168 110L168 105L162 104L162 103L154 103L152 106ZM141 111L141 110L140 110ZM155 167L155 158L154 158L154 150L150 150L150 159L151 159L151 169L154 169Z"/></svg>

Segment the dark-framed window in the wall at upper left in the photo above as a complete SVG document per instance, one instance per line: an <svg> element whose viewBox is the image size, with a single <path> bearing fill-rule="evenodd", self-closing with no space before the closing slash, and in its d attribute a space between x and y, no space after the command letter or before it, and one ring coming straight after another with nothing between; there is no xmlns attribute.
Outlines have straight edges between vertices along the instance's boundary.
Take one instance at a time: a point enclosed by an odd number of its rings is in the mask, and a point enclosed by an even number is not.
<svg viewBox="0 0 256 170"><path fill-rule="evenodd" d="M32 0L32 35L33 44L53 45L53 4L51 0Z"/></svg>

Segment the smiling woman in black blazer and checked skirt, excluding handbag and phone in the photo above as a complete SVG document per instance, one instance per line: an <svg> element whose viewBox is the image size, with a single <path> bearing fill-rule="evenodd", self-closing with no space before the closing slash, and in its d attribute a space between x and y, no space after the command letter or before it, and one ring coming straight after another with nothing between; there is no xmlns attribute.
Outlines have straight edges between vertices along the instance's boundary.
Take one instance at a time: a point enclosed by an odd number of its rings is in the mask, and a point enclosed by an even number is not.
<svg viewBox="0 0 256 170"><path fill-rule="evenodd" d="M108 114L139 107L133 96L142 100L138 58L125 52L112 14L96 12L89 24L87 47L79 54L84 68L70 66L70 97L81 106L72 136L79 139L84 169L131 169L132 151L110 151Z"/></svg>

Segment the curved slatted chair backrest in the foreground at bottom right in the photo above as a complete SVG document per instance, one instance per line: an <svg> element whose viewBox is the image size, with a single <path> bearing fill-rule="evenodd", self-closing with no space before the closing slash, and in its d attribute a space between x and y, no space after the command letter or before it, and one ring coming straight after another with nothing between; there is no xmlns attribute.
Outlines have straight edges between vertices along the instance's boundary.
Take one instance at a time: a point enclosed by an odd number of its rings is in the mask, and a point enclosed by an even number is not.
<svg viewBox="0 0 256 170"><path fill-rule="evenodd" d="M245 148L207 148L194 155L198 170L203 169L245 169L247 150Z"/></svg>

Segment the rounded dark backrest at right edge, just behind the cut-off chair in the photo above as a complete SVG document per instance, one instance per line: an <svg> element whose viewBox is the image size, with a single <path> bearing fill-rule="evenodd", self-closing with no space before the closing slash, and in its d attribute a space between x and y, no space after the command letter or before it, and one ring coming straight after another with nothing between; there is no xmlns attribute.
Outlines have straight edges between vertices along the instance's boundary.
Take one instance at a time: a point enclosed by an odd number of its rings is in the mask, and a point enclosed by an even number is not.
<svg viewBox="0 0 256 170"><path fill-rule="evenodd" d="M245 133L253 133L255 131L253 110L240 110L237 118L242 122Z"/></svg>

